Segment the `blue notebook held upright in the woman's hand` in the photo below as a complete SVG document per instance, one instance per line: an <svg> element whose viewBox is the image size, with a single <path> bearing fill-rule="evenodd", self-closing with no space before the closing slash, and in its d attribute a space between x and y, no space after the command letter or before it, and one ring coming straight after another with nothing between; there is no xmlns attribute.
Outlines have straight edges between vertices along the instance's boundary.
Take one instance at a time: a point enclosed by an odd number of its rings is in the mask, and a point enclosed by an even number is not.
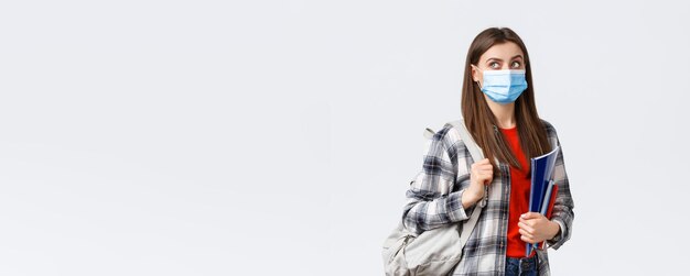
<svg viewBox="0 0 690 276"><path fill-rule="evenodd" d="M529 192L529 211L547 214L549 199L553 186L553 168L558 157L559 146L545 155L531 158L531 188ZM528 243L525 254L529 256L536 244Z"/></svg>

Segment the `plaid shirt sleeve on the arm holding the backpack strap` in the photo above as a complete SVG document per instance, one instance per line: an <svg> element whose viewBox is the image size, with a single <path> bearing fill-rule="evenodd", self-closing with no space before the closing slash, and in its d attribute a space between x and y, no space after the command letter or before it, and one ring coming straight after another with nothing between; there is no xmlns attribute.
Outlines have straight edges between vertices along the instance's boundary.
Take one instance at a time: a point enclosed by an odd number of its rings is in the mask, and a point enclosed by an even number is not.
<svg viewBox="0 0 690 276"><path fill-rule="evenodd" d="M464 189L453 187L466 176L457 178L457 152L455 139L449 135L452 126L446 124L427 142L422 169L410 183L406 197L403 225L416 233L443 224L467 219L471 209L462 206Z"/></svg>

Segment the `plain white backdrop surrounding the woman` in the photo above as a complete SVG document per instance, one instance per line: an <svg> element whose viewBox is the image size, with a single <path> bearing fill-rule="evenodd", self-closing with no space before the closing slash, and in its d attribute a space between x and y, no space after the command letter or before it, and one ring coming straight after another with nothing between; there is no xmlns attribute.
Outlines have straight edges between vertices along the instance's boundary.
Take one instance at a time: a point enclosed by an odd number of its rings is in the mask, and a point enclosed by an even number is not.
<svg viewBox="0 0 690 276"><path fill-rule="evenodd" d="M554 275L682 274L683 1L6 1L1 275L382 275L471 41L527 44L575 202Z"/></svg>

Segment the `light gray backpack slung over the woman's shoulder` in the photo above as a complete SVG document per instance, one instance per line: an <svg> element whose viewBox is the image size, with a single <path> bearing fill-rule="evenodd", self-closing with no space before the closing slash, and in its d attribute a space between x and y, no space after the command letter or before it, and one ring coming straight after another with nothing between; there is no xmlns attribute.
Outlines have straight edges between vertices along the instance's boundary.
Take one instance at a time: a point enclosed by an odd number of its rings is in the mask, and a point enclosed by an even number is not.
<svg viewBox="0 0 690 276"><path fill-rule="evenodd" d="M484 158L482 150L472 139L464 124L464 120L450 122L460 132L460 136L467 146L472 158L477 162ZM434 132L424 131L424 136L431 139ZM467 221L450 223L421 234L408 231L402 220L384 242L384 267L387 276L439 276L448 275L460 263L462 251L472 230L477 223L482 208L486 206L488 187L485 186L484 199L474 208ZM464 223L462 233L460 225Z"/></svg>

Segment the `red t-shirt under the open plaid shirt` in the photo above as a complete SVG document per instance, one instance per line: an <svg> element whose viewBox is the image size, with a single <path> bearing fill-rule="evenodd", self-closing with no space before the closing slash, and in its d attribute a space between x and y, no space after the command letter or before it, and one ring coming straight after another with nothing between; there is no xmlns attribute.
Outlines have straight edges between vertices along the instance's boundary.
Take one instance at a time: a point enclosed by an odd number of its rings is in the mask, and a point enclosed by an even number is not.
<svg viewBox="0 0 690 276"><path fill-rule="evenodd" d="M517 128L500 129L500 131L506 136L513 154L522 166L521 169L510 166L510 205L508 207L508 247L506 255L508 257L525 257L527 244L520 240L518 222L520 221L520 216L529 211L529 189L531 186L529 164L520 147ZM535 254L536 252L532 251L530 256Z"/></svg>

